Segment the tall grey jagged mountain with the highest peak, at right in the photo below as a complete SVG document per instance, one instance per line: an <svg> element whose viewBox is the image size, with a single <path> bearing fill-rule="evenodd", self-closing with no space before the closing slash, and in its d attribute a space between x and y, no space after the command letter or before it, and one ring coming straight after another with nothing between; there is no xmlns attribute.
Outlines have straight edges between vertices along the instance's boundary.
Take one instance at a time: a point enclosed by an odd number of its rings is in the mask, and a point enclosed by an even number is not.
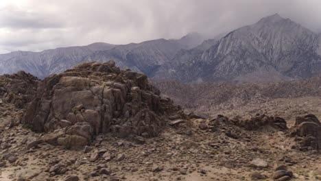
<svg viewBox="0 0 321 181"><path fill-rule="evenodd" d="M177 54L156 73L180 82L270 82L320 75L320 36L278 14L235 29L209 49Z"/></svg>

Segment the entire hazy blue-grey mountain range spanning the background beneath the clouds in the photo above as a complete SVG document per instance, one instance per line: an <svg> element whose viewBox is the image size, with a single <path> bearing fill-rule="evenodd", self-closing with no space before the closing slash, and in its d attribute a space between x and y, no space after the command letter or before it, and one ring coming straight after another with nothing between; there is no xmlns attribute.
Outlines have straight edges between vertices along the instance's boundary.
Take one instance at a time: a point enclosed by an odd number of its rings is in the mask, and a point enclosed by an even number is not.
<svg viewBox="0 0 321 181"><path fill-rule="evenodd" d="M117 66L179 82L270 82L321 74L321 36L278 14L209 40L198 33L177 40L128 45L93 43L0 55L0 74L23 70L43 78L84 61Z"/></svg>

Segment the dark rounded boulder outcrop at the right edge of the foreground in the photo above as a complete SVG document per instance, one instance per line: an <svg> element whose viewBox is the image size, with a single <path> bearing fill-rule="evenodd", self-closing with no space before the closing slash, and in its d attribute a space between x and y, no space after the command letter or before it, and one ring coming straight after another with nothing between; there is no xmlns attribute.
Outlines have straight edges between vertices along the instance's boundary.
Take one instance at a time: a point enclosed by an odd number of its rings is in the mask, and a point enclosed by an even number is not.
<svg viewBox="0 0 321 181"><path fill-rule="evenodd" d="M289 136L296 136L298 148L302 151L309 149L321 150L321 123L313 114L297 117Z"/></svg>

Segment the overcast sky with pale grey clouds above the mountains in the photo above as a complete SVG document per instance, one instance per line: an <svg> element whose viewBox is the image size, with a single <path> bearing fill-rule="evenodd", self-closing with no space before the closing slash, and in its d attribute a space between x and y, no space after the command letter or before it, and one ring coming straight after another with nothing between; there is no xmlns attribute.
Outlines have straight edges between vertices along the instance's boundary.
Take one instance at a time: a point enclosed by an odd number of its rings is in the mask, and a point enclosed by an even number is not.
<svg viewBox="0 0 321 181"><path fill-rule="evenodd" d="M321 32L321 0L0 0L0 53L214 37L275 13Z"/></svg>

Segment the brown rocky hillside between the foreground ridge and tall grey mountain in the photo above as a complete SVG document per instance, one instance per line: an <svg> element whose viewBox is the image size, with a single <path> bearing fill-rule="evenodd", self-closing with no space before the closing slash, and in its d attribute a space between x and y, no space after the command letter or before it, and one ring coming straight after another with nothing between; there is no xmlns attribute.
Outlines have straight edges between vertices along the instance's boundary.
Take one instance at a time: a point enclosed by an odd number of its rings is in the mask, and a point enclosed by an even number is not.
<svg viewBox="0 0 321 181"><path fill-rule="evenodd" d="M183 84L172 80L156 81L164 96L183 108L209 116L257 113L282 114L294 121L307 112L320 117L321 77L308 80L246 84Z"/></svg>

